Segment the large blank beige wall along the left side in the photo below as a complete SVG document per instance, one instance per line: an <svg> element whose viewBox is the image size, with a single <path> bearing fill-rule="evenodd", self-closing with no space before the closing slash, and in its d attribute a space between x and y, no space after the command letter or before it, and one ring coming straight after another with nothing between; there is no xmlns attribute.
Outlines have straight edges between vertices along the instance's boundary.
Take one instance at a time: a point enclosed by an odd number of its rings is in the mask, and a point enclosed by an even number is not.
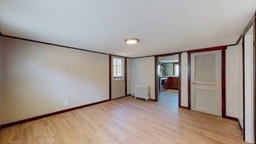
<svg viewBox="0 0 256 144"><path fill-rule="evenodd" d="M2 44L3 123L109 99L109 55L4 37Z"/></svg>

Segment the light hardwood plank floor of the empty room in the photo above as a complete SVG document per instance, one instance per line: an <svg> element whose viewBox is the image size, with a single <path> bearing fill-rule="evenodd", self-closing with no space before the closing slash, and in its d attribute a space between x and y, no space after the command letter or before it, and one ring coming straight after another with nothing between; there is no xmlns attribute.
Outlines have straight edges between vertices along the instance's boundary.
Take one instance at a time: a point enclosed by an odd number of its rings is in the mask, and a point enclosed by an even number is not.
<svg viewBox="0 0 256 144"><path fill-rule="evenodd" d="M161 97L160 97L161 99ZM238 123L124 97L3 128L0 143L243 143Z"/></svg>

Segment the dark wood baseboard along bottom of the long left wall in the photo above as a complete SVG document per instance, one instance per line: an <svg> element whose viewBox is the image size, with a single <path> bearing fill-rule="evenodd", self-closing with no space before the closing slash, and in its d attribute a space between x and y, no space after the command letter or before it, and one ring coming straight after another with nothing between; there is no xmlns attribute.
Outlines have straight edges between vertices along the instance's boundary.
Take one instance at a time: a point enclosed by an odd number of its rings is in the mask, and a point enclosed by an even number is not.
<svg viewBox="0 0 256 144"><path fill-rule="evenodd" d="M12 123L6 123L6 124L1 125L1 128L7 128L7 127L15 126L15 125L18 125L18 124L21 124L21 123L27 123L27 122L30 122L30 121L33 121L33 120L42 119L44 117L50 117L50 116L53 116L53 115L56 115L56 114L61 114L61 113L64 113L64 112L70 112L70 111L73 111L75 109L81 109L81 108L84 108L84 107L87 107L87 106L92 106L92 105L95 105L95 104L98 104L98 103L104 103L104 102L107 102L107 101L110 101L110 100L102 100L102 101L98 101L98 102L95 102L95 103L86 104L86 105L83 105L83 106L76 106L76 107L73 107L73 108L70 108L70 109L64 109L64 110L61 110L61 111L58 111L58 112L52 112L50 114L43 114L43 115L40 115L40 116L27 118L27 119L24 119L24 120L18 120L16 122L12 122Z"/></svg>

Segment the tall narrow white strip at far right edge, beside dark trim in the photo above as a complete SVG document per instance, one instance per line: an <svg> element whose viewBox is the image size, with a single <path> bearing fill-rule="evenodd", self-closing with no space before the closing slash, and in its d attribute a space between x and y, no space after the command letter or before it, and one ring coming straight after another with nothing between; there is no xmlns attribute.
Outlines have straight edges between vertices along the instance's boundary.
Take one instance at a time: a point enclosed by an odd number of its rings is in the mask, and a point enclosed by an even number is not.
<svg viewBox="0 0 256 144"><path fill-rule="evenodd" d="M254 143L254 60L253 27L244 40L245 140Z"/></svg>

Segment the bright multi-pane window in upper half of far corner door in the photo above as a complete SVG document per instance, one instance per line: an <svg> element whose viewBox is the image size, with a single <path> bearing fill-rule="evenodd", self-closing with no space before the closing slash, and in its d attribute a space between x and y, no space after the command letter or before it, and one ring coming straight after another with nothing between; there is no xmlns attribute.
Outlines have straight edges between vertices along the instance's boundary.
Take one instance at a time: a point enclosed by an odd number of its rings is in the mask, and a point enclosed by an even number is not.
<svg viewBox="0 0 256 144"><path fill-rule="evenodd" d="M121 58L113 58L113 79L123 80L124 79L124 61Z"/></svg>

